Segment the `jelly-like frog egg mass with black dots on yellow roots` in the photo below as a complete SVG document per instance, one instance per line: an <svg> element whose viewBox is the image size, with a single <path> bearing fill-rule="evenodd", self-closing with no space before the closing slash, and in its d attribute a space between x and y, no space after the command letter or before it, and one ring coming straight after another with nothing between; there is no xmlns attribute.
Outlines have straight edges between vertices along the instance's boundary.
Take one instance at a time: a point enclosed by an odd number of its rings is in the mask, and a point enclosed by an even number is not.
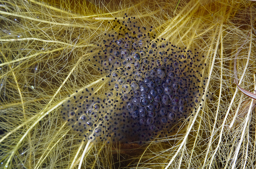
<svg viewBox="0 0 256 169"><path fill-rule="evenodd" d="M91 51L106 93L86 88L70 96L62 119L84 140L130 143L175 134L203 94L204 56L156 37L135 18L114 24Z"/></svg>

